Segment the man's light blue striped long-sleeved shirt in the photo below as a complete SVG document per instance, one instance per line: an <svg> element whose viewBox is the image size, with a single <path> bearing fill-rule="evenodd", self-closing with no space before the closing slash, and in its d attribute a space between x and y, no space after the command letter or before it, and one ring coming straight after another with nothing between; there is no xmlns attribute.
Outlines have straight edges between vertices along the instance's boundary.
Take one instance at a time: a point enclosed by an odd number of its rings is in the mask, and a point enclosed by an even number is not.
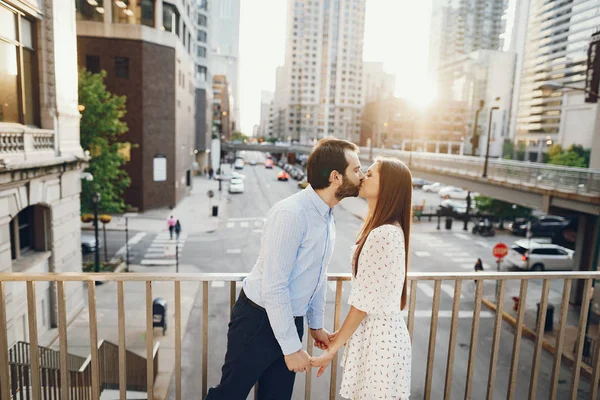
<svg viewBox="0 0 600 400"><path fill-rule="evenodd" d="M283 354L302 348L294 317L323 327L327 266L335 243L333 209L308 186L275 204L265 221L258 260L244 279L246 296L267 310Z"/></svg>

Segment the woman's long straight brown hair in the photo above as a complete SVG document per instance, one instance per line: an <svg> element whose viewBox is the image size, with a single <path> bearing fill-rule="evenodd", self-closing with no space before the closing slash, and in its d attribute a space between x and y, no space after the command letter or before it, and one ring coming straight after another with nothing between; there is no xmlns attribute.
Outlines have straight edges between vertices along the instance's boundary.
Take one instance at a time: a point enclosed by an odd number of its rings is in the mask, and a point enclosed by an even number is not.
<svg viewBox="0 0 600 400"><path fill-rule="evenodd" d="M412 221L412 176L408 167L394 158L378 158L379 163L379 194L373 214L367 217L360 233L356 249L353 269L354 276L358 274L358 259L367 241L369 233L375 228L386 224L400 224L404 232L405 245L405 278L402 288L400 309L406 307L408 282L408 245L410 240L410 224Z"/></svg>

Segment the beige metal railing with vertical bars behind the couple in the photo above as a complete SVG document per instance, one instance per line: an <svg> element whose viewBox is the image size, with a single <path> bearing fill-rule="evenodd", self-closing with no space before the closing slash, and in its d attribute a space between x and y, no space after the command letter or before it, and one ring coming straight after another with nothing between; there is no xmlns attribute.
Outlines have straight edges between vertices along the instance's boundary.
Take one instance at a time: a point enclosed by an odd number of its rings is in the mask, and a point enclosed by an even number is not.
<svg viewBox="0 0 600 400"><path fill-rule="evenodd" d="M89 332L90 332L90 343L98 342L98 321L96 316L96 286L94 281L116 281L117 284L117 315L118 315L118 337L119 346L118 350L116 346L111 345L106 347L104 355L103 351L98 351L97 348L91 349L91 355L89 358L89 365L91 371L91 397L92 399L99 398L99 388L103 381L109 382L110 385L117 385L121 388L121 399L125 399L125 388L128 387L129 380L135 379L128 375L129 371L128 363L133 361L128 359L125 351L125 312L124 312L124 282L144 282L145 283L145 320L146 320L146 352L147 358L145 365L135 365L135 369L146 369L146 376L155 376L157 370L157 362L154 357L156 354L156 347L153 345L153 318L152 318L152 286L153 282L171 281L173 282L174 290L174 326L175 326L175 398L181 399L181 339L182 339L182 323L181 323L181 282L200 281L202 282L202 327L201 331L198 332L202 338L202 393L204 397L208 389L208 343L209 343L209 299L210 301L216 298L216 293L213 293L209 297L209 283L213 281L226 281L229 282L229 293L228 306L233 307L234 302L238 294L237 282L243 280L245 274L78 274L78 273L64 273L64 274L0 274L0 328L6 326L6 284L8 282L26 282L27 285L27 304L28 304L28 321L30 340L32 345L30 347L30 359L31 359L31 387L32 387L32 398L34 400L41 399L40 389L42 387L42 381L40 380L40 354L37 351L37 322L36 322L36 299L35 299L35 285L38 281L56 281L58 288L58 310L59 310L59 342L61 349L67 348L67 334L66 334L66 307L65 307L65 290L64 285L66 282L87 282L88 292L88 316L89 316ZM464 388L460 393L460 397L465 399L470 398L492 398L494 393L497 393L500 388L497 387L497 383L502 381L506 383L501 392L503 395L499 396L496 394L496 398L524 398L524 393L527 392L527 397L530 399L537 399L542 397L542 392L546 391L547 397L556 399L557 396L560 398L566 398L566 394L560 394L559 388L559 375L563 373L561 379L564 379L564 369L561 364L563 359L563 350L567 347L566 341L566 328L567 328L567 315L569 312L569 299L571 295L571 288L573 283L575 287L577 285L583 288L583 299L582 306L579 314L579 322L572 336L574 336L575 342L577 343L572 368L570 369L570 384L569 384L569 395L568 398L575 399L578 396L578 390L581 389L582 382L580 382L582 374L582 361L583 361L583 347L584 339L586 336L586 325L588 319L588 310L591 300L591 287L592 282L595 279L600 278L600 272L555 272L531 274L531 273L419 273L409 274L410 290L409 290L409 307L406 315L407 326L411 335L413 349L416 349L421 342L426 341L426 345L423 346L426 350L419 353L418 355L413 352L413 386L418 387L422 390L422 396L419 398L431 399L431 398L444 398L450 399L456 396L457 386ZM345 281L350 280L349 274L331 274L328 280L335 282L335 303L333 310L333 329L337 330L341 325L341 309L344 307L342 302L343 295L343 284ZM475 283L474 283L475 281ZM541 285L540 285L541 281ZM482 324L482 304L489 302L484 300L484 288L490 288L489 284L496 283L496 289L491 293L492 299L496 302L495 314L493 314L493 327L491 328L491 344L489 350L478 347L478 342L483 340L479 337L480 325ZM530 284L531 283L531 284ZM452 285L450 285L452 284ZM552 284L558 284L553 286L552 295L550 295L550 288ZM418 296L417 288L421 288L421 285L429 285L431 295L431 306L426 309L417 310L423 304L423 299ZM431 288L430 285L433 285ZM537 286L536 286L537 285ZM217 285L215 285L217 286ZM220 285L219 285L220 286ZM536 287L539 287L539 291L536 292ZM562 288L558 290L556 288ZM212 289L215 292L218 289ZM450 305L450 302L442 302L442 292L445 295L452 297L451 310L440 310ZM556 295L559 293L560 295ZM463 294L472 293L472 299L461 301ZM509 299L513 293L518 293L519 296L519 307L516 313L516 324L514 328L514 337L512 344L508 345L506 341L500 341L500 335L503 333L506 335L506 330L502 331L503 325L503 312L507 308L505 307L505 299ZM223 293L221 293L223 295ZM535 326L535 339L533 340L533 351L531 360L524 360L524 355L527 352L521 353L521 348L524 346L524 341L521 340L523 334L524 323L526 321L526 310L527 310L527 299L531 301L537 301L537 295L539 295L540 303L540 314L539 321ZM489 296L488 296L489 297ZM558 329L556 332L556 339L553 341L554 355L552 356L552 362L548 362L548 358L542 362L542 345L545 340L543 338L544 326L546 319L546 310L549 304L549 299L553 302L560 300L560 315L558 317ZM472 300L472 302L471 302ZM461 304L462 303L462 304ZM417 307L419 305L419 307ZM466 306L466 308L465 308ZM489 314L488 311L486 313ZM450 324L447 337L443 337L443 334L438 326L442 326L440 318L450 317ZM486 314L486 315L488 315ZM423 317L426 317L428 324L421 323ZM466 343L461 344L461 348L457 347L457 332L459 331L459 318L467 316L470 319L470 333L468 334L468 345ZM483 319L484 321L488 321ZM490 321L491 322L491 321ZM224 321L222 323L225 323ZM418 329L418 334L415 333L415 327ZM490 328L489 324L483 323L484 328ZM429 333L426 335L426 328ZM464 328L464 327L463 327ZM464 342L466 335L460 337L460 340ZM437 346L439 340L446 339L446 346ZM313 347L312 341L307 341L307 351L312 354ZM527 342L529 343L529 342ZM464 352L463 347L466 346L468 349L468 357L466 362L461 363L455 360L455 355L458 352ZM500 351L500 348L507 347L512 351ZM440 352L440 347L442 351ZM7 366L8 363L8 343L6 336L6 329L0 329L0 398L10 399L9 382L14 379L12 376L13 372L10 371ZM592 359L595 360L592 366L591 374L589 374L589 398L596 399L598 394L598 383L600 379L600 365L598 361L598 351L600 347L594 348L595 354L592 355ZM118 363L116 362L116 352L118 352ZM489 354L489 361L483 364L481 354ZM442 363L435 364L436 358L439 360L440 357L445 356L445 368L441 365ZM115 367L118 365L116 371L107 372L101 371L102 359L114 362ZM331 364L331 378L330 378L330 396L329 398L334 399L337 383L338 383L338 368L337 368L337 357ZM68 368L68 357L66 353L61 351L60 353L60 381L67 381L69 376ZM477 367L476 367L477 364ZM526 364L526 365L525 365ZM503 373L501 379L498 377L499 365L507 366L507 371L500 370ZM485 366L485 372L483 368ZM85 366L82 366L84 368ZM416 370L423 370L424 377L417 373ZM460 369L460 370L459 370ZM477 370L477 371L476 371ZM523 371L528 371L529 376L523 376ZM439 387L442 389L435 389L439 393L436 394L434 390L434 371L438 378L437 381L440 383ZM506 372L506 373L505 373ZM200 374L200 372L198 372ZM118 374L118 380L117 380ZM482 376L487 374L487 380ZM475 379L475 376L478 378ZM549 377L548 385L541 385L538 382L540 376ZM442 378L443 377L443 384ZM423 379L424 378L424 379ZM462 380L464 378L464 381ZM72 379L72 378L71 378ZM87 379L87 378L86 378ZM87 381L86 381L87 382ZM458 383L457 383L458 382ZM216 383L216 382L213 382ZM416 383L416 384L415 384ZM312 385L312 374L306 375L305 380L305 399L311 398L311 385ZM499 384L498 384L499 385ZM477 387L476 387L477 386ZM111 386L114 387L114 386ZM146 391L149 398L153 398L154 394L154 381L149 379L146 381ZM72 390L68 385L60 386L61 398L69 398L69 391ZM415 389L416 390L416 389ZM481 393L479 393L481 392ZM486 395L483 395L483 392ZM505 395L504 395L505 393ZM46 398L46 397L43 397ZM319 396L319 399L323 397Z"/></svg>

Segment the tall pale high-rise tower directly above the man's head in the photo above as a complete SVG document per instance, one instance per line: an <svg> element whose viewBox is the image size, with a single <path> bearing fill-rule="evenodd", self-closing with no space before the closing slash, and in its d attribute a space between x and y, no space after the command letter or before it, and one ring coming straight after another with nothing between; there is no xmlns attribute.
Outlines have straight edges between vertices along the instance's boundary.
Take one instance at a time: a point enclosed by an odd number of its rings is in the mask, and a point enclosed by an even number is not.
<svg viewBox="0 0 600 400"><path fill-rule="evenodd" d="M289 0L284 137L358 142L366 0Z"/></svg>

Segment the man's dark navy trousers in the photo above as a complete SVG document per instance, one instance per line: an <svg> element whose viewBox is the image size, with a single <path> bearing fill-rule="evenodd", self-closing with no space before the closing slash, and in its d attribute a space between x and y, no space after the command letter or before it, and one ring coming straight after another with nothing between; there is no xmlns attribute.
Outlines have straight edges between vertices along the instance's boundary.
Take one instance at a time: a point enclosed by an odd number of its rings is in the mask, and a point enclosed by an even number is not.
<svg viewBox="0 0 600 400"><path fill-rule="evenodd" d="M296 318L295 323L302 341L304 320ZM295 378L285 365L266 311L238 298L229 322L221 382L209 389L205 400L245 400L256 382L259 400L291 399Z"/></svg>

